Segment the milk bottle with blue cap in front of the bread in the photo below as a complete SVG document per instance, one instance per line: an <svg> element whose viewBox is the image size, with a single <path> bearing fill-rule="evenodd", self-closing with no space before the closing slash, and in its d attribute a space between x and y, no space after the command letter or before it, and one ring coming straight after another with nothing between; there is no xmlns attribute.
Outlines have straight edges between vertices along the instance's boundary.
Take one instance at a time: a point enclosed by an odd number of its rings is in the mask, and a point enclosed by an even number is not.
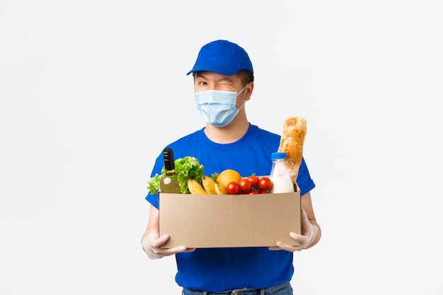
<svg viewBox="0 0 443 295"><path fill-rule="evenodd" d="M272 180L271 192L294 192L294 183L292 183L286 163L284 163L286 154L280 152L272 153L271 158L272 169L269 177Z"/></svg>

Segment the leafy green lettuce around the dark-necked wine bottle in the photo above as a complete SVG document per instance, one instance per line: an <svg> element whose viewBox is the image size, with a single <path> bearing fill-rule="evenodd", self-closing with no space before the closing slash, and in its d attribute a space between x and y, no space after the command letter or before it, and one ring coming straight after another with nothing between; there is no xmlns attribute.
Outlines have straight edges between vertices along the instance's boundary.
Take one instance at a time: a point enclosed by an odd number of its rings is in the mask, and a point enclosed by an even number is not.
<svg viewBox="0 0 443 295"><path fill-rule="evenodd" d="M188 179L192 178L197 183L202 184L203 166L197 158L185 156L174 161L176 165L177 180L181 187L182 194L189 194ZM148 190L151 194L156 194L160 189L160 179L165 175L165 167L161 168L161 174L156 174L148 180Z"/></svg>

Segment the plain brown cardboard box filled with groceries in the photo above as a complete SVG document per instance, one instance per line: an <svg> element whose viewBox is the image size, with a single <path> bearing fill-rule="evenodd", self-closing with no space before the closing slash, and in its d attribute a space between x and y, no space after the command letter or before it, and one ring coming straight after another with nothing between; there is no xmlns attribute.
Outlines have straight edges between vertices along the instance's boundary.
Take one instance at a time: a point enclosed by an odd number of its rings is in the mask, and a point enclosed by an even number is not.
<svg viewBox="0 0 443 295"><path fill-rule="evenodd" d="M181 195L159 193L162 248L267 247L277 241L299 245L300 191L262 195Z"/></svg>

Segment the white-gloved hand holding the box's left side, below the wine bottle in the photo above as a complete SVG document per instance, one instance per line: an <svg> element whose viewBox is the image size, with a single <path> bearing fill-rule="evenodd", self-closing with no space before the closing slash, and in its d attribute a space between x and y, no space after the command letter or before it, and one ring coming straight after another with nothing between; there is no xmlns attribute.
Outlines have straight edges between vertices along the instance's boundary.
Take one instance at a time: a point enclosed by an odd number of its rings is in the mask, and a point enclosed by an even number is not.
<svg viewBox="0 0 443 295"><path fill-rule="evenodd" d="M188 249L184 245L176 248L162 249L161 245L168 241L169 236L163 235L159 237L159 214L154 217L154 223L148 235L142 240L142 248L150 259L163 258L164 256L173 255L179 252L190 252L195 249Z"/></svg>

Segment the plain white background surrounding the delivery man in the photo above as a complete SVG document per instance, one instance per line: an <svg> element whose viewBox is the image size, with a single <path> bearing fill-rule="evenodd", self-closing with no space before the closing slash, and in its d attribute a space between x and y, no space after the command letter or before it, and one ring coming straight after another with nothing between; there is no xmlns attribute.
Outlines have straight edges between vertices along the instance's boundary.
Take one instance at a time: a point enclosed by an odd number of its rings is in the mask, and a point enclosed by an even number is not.
<svg viewBox="0 0 443 295"><path fill-rule="evenodd" d="M180 294L139 245L202 45L250 55L255 125L308 121L321 242L296 294L442 294L441 1L0 1L0 294ZM408 294L409 294L408 293Z"/></svg>

